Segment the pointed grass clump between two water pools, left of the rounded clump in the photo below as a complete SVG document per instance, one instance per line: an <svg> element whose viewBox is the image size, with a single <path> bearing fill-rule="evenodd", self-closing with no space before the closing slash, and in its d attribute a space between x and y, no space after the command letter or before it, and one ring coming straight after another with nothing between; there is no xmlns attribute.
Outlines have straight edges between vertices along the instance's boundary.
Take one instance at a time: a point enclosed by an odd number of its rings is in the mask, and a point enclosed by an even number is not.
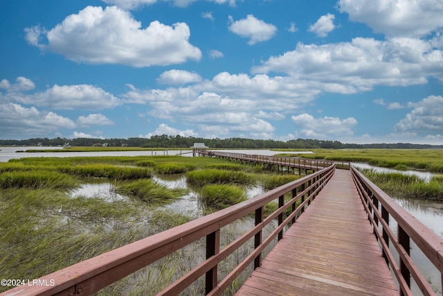
<svg viewBox="0 0 443 296"><path fill-rule="evenodd" d="M138 198L150 205L159 206L174 202L174 200L177 200L188 191L186 189L168 189L168 187L153 180L145 179L128 184L120 184L117 186L116 192L132 198Z"/></svg>

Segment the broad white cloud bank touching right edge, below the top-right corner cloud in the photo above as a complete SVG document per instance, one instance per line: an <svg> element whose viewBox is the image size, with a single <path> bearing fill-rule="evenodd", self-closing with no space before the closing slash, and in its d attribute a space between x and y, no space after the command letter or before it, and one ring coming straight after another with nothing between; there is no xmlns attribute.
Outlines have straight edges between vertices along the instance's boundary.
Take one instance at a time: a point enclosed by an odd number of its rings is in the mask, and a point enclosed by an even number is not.
<svg viewBox="0 0 443 296"><path fill-rule="evenodd" d="M350 94L377 85L424 84L429 76L443 81L443 51L431 42L411 38L380 41L354 38L352 42L302 44L254 67L253 73L287 73L318 82L325 92Z"/></svg>

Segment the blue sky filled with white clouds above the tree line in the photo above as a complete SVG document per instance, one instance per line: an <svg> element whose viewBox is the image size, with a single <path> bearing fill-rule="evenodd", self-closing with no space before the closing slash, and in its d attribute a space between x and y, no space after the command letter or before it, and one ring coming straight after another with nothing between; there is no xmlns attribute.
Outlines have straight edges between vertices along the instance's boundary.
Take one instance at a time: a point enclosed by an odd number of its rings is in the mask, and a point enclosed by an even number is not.
<svg viewBox="0 0 443 296"><path fill-rule="evenodd" d="M443 143L441 0L0 1L0 138Z"/></svg>

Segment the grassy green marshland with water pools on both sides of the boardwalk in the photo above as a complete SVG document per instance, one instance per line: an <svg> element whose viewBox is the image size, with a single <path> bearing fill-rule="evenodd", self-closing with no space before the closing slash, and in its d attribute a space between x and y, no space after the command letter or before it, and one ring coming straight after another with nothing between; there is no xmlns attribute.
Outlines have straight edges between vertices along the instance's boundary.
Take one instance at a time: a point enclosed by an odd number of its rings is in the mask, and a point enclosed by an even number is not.
<svg viewBox="0 0 443 296"><path fill-rule="evenodd" d="M35 279L299 177L223 159L163 154L166 153L126 157L27 156L0 162L0 274L5 278ZM379 166L434 171L431 180L373 170L364 173L404 207L433 202L434 214L441 220L442 154L440 150L314 150L302 157L376 164L373 159L379 155ZM441 165L443 168L443 161ZM252 218L223 229L221 245L250 225ZM435 231L443 236L443 229ZM226 274L232 270L244 258L245 248L252 246L252 242L246 244L228 257L219 272ZM199 241L99 294L154 295L203 259L204 242ZM235 291L248 271L226 291L227 295ZM202 289L204 284L197 281L186 293L199 295Z"/></svg>

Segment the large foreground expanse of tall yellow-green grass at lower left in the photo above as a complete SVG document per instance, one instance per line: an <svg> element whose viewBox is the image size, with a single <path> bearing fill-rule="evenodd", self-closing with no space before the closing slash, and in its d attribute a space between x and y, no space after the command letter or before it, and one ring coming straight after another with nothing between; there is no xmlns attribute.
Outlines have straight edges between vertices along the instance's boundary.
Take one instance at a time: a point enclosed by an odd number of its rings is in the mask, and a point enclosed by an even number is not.
<svg viewBox="0 0 443 296"><path fill-rule="evenodd" d="M151 210L136 200L70 198L54 189L1 189L0 220L0 274L10 279L36 279L190 218L161 208ZM159 262L146 270L157 274L155 270L164 264ZM176 265L165 265L163 275L173 274ZM154 279L149 288L158 290L161 284L161 279ZM118 285L107 289L127 293L127 286ZM0 287L0 291L7 288ZM109 290L99 294L109 295ZM121 295L113 293L117 294Z"/></svg>

